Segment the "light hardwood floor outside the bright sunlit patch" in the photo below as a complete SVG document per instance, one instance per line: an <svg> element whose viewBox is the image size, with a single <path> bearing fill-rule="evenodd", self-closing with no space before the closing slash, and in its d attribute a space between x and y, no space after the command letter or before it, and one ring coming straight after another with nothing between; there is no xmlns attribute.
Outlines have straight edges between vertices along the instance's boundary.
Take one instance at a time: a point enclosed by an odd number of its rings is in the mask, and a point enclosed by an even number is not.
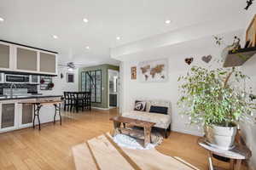
<svg viewBox="0 0 256 170"><path fill-rule="evenodd" d="M32 127L0 134L0 169L75 169L72 147L112 130L111 116L117 110L65 113L62 126L46 123L42 130ZM196 143L198 137L172 132L156 149L167 156L179 156L195 167L207 169L207 152ZM157 162L156 162L157 163ZM227 163L217 161L228 168ZM246 169L246 168L244 168Z"/></svg>

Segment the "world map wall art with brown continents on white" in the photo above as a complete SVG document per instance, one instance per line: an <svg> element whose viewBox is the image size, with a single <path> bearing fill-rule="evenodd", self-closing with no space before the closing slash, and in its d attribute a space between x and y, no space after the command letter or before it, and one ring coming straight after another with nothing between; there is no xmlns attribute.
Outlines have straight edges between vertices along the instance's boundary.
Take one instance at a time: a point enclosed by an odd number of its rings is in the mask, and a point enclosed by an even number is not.
<svg viewBox="0 0 256 170"><path fill-rule="evenodd" d="M168 78L168 59L139 62L138 78L141 82L166 82Z"/></svg>

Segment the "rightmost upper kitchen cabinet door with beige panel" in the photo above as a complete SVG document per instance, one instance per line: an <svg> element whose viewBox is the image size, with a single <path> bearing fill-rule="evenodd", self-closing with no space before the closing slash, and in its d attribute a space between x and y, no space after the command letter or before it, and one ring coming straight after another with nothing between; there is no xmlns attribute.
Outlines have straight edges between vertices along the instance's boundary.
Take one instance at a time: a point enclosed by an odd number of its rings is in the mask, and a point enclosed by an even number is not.
<svg viewBox="0 0 256 170"><path fill-rule="evenodd" d="M56 55L40 52L40 72L56 74Z"/></svg>

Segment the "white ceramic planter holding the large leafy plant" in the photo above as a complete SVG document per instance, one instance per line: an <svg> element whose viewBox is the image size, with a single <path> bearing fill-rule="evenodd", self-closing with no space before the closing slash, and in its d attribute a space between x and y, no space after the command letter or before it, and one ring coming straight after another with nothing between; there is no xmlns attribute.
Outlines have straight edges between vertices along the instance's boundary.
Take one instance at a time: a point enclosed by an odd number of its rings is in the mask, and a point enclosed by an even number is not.
<svg viewBox="0 0 256 170"><path fill-rule="evenodd" d="M234 147L237 127L205 127L207 142L221 150L230 150Z"/></svg>

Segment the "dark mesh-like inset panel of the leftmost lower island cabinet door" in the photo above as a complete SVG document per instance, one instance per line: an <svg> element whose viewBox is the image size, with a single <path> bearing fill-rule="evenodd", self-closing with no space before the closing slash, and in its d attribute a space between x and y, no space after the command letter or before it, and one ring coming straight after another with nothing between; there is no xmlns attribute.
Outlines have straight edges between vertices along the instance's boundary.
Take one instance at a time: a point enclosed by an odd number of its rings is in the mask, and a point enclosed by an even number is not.
<svg viewBox="0 0 256 170"><path fill-rule="evenodd" d="M15 126L15 104L2 105L2 123L1 128Z"/></svg>

